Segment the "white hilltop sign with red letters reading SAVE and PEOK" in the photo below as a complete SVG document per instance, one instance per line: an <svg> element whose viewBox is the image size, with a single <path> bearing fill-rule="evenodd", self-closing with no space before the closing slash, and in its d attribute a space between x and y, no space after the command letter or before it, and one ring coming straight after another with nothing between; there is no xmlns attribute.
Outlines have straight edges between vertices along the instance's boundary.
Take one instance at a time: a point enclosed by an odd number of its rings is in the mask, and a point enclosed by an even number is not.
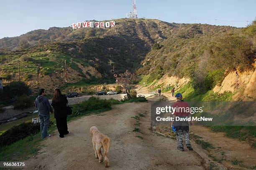
<svg viewBox="0 0 256 170"><path fill-rule="evenodd" d="M115 21L110 21L110 22L93 22L93 21L87 21L87 22L78 22L78 23L73 23L72 28L77 29L77 28L110 28L110 27L115 27Z"/></svg>

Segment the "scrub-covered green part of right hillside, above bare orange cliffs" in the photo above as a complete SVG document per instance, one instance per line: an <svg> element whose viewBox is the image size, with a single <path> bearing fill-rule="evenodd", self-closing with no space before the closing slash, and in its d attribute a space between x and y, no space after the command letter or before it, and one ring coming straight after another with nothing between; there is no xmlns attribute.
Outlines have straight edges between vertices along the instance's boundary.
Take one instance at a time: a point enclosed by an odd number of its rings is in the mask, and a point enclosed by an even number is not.
<svg viewBox="0 0 256 170"><path fill-rule="evenodd" d="M204 25L204 36L201 24L186 25L179 33L154 45L137 74L144 75L146 84L165 74L189 77L195 92L207 92L222 82L225 71L254 69L255 43L255 25L247 28Z"/></svg>

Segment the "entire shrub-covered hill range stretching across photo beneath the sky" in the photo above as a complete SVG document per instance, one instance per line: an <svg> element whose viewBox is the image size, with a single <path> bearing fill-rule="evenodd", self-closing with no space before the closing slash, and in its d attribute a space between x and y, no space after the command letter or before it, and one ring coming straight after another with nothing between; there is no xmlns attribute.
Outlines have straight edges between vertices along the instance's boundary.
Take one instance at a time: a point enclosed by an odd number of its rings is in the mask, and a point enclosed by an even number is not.
<svg viewBox="0 0 256 170"><path fill-rule="evenodd" d="M248 69L255 58L255 26L234 28L117 19L114 28L49 28L0 39L0 77L32 88L82 80L106 82L126 69L147 83L169 74L204 78L212 70Z"/></svg>

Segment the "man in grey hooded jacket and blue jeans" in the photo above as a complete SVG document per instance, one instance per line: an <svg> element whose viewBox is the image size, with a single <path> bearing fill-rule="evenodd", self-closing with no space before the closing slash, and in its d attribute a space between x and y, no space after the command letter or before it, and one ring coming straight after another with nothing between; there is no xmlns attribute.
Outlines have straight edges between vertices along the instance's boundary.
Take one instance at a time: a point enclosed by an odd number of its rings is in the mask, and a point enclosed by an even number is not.
<svg viewBox="0 0 256 170"><path fill-rule="evenodd" d="M48 138L51 135L47 134L47 129L49 127L50 123L50 113L53 113L53 110L51 108L51 105L49 103L48 98L45 96L44 89L39 90L39 95L36 97L35 105L38 109L38 116L40 120L40 132L41 132L41 138Z"/></svg>

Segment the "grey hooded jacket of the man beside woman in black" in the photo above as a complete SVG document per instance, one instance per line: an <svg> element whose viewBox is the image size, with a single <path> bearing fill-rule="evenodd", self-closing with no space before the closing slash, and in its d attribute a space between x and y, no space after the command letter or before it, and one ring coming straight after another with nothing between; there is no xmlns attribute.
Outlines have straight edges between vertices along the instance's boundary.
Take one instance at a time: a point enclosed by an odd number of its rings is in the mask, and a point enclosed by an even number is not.
<svg viewBox="0 0 256 170"><path fill-rule="evenodd" d="M49 112L52 112L50 102L45 96L40 95L36 97L35 105L40 115L49 115Z"/></svg>

